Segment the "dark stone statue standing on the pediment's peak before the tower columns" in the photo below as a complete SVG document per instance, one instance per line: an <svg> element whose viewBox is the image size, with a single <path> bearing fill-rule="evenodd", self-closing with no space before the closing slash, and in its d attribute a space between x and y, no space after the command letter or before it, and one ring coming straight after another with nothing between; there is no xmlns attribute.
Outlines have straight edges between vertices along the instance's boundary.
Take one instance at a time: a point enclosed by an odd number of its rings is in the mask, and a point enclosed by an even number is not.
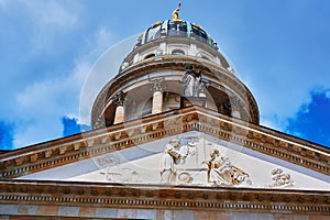
<svg viewBox="0 0 330 220"><path fill-rule="evenodd" d="M193 66L186 67L185 76L182 79L185 89L185 97L199 97L199 90L201 87L201 74L193 70Z"/></svg>

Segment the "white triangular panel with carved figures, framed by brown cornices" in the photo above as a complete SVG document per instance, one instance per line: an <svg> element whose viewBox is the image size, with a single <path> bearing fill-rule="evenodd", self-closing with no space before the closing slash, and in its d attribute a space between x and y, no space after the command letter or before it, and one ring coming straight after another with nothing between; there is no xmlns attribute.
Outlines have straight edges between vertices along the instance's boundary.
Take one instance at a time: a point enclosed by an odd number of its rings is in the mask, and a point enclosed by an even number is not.
<svg viewBox="0 0 330 220"><path fill-rule="evenodd" d="M174 147L173 141L179 141L179 145ZM317 190L330 187L327 175L198 131L20 178Z"/></svg>

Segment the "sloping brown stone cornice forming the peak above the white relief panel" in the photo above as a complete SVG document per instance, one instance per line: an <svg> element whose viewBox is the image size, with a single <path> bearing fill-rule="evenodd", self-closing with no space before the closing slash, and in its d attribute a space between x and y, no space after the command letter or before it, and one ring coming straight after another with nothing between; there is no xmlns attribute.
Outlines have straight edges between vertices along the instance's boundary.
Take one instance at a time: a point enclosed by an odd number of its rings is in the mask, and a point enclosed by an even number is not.
<svg viewBox="0 0 330 220"><path fill-rule="evenodd" d="M188 131L199 131L330 175L328 147L189 107L0 154L1 178L15 178Z"/></svg>

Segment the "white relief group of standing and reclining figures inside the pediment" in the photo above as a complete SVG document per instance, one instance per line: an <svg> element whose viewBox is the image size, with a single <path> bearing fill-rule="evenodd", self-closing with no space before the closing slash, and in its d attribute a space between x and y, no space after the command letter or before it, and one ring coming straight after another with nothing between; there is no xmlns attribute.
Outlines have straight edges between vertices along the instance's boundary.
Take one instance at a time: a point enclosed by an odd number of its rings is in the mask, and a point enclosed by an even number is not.
<svg viewBox="0 0 330 220"><path fill-rule="evenodd" d="M189 139L180 145L173 140L165 146L161 160L161 183L183 185L251 186L248 173L232 165L217 148L207 148L202 140ZM191 141L195 139L195 141ZM207 152L210 158L206 160Z"/></svg>

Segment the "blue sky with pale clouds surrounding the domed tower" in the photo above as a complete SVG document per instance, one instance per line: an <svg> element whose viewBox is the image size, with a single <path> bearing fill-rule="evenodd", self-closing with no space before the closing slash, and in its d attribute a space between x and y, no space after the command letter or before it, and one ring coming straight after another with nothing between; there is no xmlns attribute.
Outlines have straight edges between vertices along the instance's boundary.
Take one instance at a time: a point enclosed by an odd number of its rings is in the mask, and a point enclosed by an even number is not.
<svg viewBox="0 0 330 220"><path fill-rule="evenodd" d="M261 124L330 146L330 1L182 3L180 18L212 35L255 96ZM0 147L23 147L88 125L91 107L79 117L80 99L94 64L123 38L170 19L176 6L0 0Z"/></svg>

